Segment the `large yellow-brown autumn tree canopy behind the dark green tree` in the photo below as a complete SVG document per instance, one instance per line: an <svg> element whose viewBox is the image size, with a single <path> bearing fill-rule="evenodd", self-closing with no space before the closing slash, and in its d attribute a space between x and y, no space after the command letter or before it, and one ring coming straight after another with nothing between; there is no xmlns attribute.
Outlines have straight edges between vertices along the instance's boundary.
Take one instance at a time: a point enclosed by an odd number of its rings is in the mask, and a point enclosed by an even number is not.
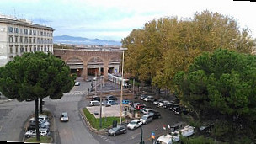
<svg viewBox="0 0 256 144"><path fill-rule="evenodd" d="M128 47L125 72L141 82L172 89L175 73L188 70L204 51L225 48L251 53L253 40L235 19L205 10L190 19L153 19L143 29L132 30L122 46Z"/></svg>

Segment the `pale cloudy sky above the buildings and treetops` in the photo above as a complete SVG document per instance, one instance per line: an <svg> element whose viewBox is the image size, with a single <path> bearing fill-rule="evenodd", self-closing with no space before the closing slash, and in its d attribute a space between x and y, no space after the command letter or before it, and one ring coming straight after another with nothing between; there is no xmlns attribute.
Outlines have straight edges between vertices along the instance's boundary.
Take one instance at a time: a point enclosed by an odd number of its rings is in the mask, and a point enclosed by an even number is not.
<svg viewBox="0 0 256 144"><path fill-rule="evenodd" d="M55 29L54 35L118 40L152 19L208 9L237 19L256 38L256 3L232 0L1 0L0 13Z"/></svg>

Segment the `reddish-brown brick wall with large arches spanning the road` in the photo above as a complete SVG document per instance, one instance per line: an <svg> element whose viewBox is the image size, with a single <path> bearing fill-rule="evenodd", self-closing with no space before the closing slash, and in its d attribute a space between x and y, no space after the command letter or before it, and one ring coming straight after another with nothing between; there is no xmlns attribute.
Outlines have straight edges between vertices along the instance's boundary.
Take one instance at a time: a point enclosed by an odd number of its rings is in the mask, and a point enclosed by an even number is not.
<svg viewBox="0 0 256 144"><path fill-rule="evenodd" d="M87 79L88 68L99 69L99 71L97 70L95 72L98 72L98 75L104 73L105 78L108 77L109 67L111 67L111 65L115 65L115 72L119 72L122 51L108 48L99 50L54 49L53 53L55 56L65 61L67 65L72 65L72 68L77 70L78 75L81 74L84 79ZM104 72L101 72L102 69ZM111 72L113 72L113 70Z"/></svg>

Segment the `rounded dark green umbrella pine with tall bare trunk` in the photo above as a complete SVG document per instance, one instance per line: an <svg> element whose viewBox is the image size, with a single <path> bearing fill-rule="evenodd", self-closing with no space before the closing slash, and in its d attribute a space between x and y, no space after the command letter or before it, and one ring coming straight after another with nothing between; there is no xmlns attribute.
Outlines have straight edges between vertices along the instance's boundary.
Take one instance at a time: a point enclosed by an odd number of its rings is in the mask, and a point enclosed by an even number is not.
<svg viewBox="0 0 256 144"><path fill-rule="evenodd" d="M61 99L74 84L69 67L50 53L24 53L15 56L0 67L0 90L10 99L35 99L36 137L40 141L38 126L38 99L49 96Z"/></svg>

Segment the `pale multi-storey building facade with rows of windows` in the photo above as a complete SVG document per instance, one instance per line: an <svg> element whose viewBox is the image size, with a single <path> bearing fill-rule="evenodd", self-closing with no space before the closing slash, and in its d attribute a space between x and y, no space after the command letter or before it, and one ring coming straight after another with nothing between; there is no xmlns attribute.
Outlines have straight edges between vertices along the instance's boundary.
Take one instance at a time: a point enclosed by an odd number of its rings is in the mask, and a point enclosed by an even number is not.
<svg viewBox="0 0 256 144"><path fill-rule="evenodd" d="M53 53L53 31L51 27L0 14L0 67L24 52Z"/></svg>

